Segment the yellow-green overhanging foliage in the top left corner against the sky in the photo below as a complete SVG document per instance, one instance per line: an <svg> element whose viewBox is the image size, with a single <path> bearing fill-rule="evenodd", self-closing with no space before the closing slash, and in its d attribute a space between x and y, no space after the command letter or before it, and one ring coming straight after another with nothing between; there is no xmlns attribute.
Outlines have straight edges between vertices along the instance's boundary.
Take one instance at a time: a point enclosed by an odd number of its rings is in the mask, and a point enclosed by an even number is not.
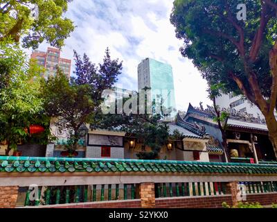
<svg viewBox="0 0 277 222"><path fill-rule="evenodd" d="M46 40L60 48L73 31L73 22L63 17L71 0L3 0L0 3L0 41L10 37L36 49Z"/></svg>

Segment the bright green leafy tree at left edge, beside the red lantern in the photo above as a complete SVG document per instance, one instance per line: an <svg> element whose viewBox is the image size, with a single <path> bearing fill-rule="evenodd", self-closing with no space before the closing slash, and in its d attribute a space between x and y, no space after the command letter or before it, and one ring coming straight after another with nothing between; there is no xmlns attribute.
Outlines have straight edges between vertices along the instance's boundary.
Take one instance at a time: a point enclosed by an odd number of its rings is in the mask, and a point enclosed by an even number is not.
<svg viewBox="0 0 277 222"><path fill-rule="evenodd" d="M39 69L12 42L0 42L0 51L0 141L6 140L8 155L28 139L26 129L33 123L46 125L46 117L39 96Z"/></svg>

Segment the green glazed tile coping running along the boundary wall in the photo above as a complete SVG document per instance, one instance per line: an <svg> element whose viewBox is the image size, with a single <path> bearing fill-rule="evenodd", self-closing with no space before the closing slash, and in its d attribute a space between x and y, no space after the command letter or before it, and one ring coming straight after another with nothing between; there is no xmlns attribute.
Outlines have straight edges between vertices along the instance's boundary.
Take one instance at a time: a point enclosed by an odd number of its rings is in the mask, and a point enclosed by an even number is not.
<svg viewBox="0 0 277 222"><path fill-rule="evenodd" d="M145 171L147 169L147 171ZM277 175L277 164L124 160L60 157L0 157L0 173L229 173Z"/></svg>

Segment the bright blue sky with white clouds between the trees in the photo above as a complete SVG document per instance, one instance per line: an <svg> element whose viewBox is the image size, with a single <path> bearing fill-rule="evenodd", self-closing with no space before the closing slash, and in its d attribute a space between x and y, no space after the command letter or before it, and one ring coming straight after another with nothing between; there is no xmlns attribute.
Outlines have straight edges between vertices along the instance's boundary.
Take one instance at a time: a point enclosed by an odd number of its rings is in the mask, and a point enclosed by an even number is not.
<svg viewBox="0 0 277 222"><path fill-rule="evenodd" d="M62 57L73 59L75 49L98 64L109 47L111 58L123 60L123 74L116 85L134 90L138 88L137 65L144 58L154 58L172 65L177 110L186 110L189 103L199 106L200 101L210 105L206 80L179 52L182 41L170 24L172 3L173 0L73 0L65 16L77 27L66 39ZM46 47L42 44L39 50L46 51Z"/></svg>

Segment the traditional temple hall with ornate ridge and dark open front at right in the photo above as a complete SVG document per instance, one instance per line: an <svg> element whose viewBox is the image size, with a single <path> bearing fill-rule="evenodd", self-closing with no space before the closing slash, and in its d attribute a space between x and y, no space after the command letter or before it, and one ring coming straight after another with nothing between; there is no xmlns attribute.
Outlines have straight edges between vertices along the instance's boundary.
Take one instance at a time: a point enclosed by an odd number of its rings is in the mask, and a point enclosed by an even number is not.
<svg viewBox="0 0 277 222"><path fill-rule="evenodd" d="M274 148L268 137L268 130L264 119L253 117L252 114L233 109L222 109L229 113L226 126L226 138L230 151L236 150L238 156L231 157L233 162L272 162L276 161ZM215 121L215 110L207 106L194 108L189 105L184 121L215 137L222 144L222 133Z"/></svg>

